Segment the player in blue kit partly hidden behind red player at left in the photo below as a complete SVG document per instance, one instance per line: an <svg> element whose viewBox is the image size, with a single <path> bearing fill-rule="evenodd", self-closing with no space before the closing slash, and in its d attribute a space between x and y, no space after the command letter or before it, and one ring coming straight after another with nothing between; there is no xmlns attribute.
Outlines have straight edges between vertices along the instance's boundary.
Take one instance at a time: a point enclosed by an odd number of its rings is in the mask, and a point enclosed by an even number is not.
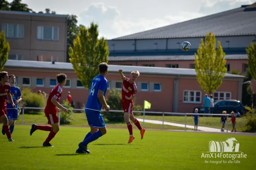
<svg viewBox="0 0 256 170"><path fill-rule="evenodd" d="M7 103L7 118L8 118L8 125L10 125L10 132L12 134L15 126L15 120L18 119L18 103L21 102L21 89L15 86L15 75L9 75L9 84L11 85L11 95L12 100L16 105L16 108L14 109L12 107L11 102L6 97L6 103ZM5 135L4 130L2 129L3 135Z"/></svg>

